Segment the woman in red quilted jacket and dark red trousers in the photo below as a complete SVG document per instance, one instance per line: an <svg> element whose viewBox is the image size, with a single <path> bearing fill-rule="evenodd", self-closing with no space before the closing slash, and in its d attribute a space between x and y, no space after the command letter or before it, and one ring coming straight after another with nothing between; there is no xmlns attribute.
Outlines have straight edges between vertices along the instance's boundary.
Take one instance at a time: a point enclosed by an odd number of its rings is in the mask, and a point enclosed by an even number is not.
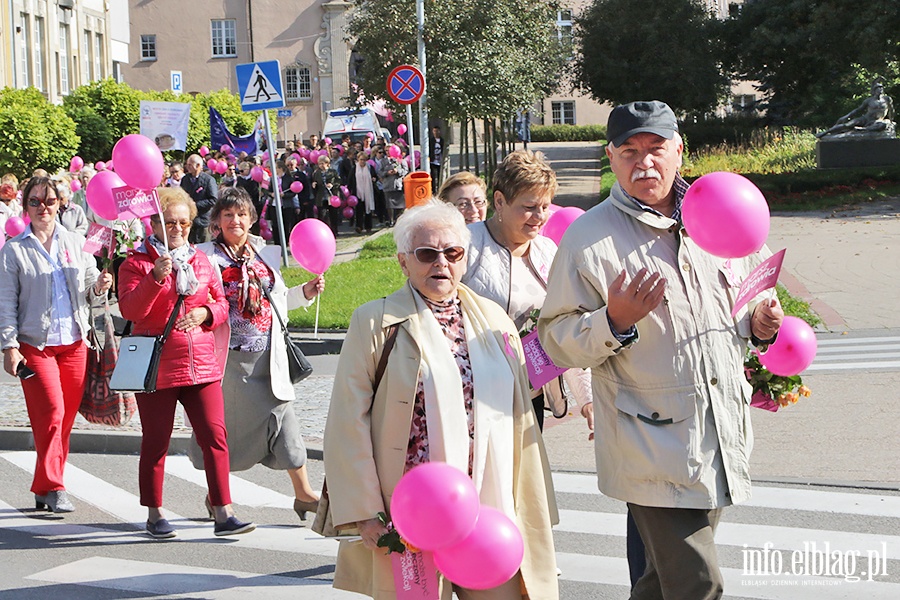
<svg viewBox="0 0 900 600"><path fill-rule="evenodd" d="M163 516L162 487L179 401L203 450L215 534L247 533L256 526L239 521L231 508L222 369L212 333L228 319L228 301L206 255L188 243L197 216L193 200L181 188L157 191L162 220L159 215L150 218L153 235L129 254L119 270L119 307L133 322L135 335L162 334L178 297L184 296L163 346L158 389L137 394L143 429L138 481L141 504L148 508L147 533L155 538L176 535ZM161 240L167 240L167 247Z"/></svg>

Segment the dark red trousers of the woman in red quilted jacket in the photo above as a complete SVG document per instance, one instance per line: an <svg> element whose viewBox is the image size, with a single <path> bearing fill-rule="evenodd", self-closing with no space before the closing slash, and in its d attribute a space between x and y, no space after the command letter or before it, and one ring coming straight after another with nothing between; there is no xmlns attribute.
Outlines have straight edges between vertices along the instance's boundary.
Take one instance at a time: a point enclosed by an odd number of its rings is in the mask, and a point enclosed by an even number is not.
<svg viewBox="0 0 900 600"><path fill-rule="evenodd" d="M138 484L141 505L162 506L162 486L166 454L175 424L175 405L180 400L191 420L194 435L203 450L203 468L213 506L231 504L228 485L228 442L225 433L225 404L219 381L136 394L141 415L141 459Z"/></svg>

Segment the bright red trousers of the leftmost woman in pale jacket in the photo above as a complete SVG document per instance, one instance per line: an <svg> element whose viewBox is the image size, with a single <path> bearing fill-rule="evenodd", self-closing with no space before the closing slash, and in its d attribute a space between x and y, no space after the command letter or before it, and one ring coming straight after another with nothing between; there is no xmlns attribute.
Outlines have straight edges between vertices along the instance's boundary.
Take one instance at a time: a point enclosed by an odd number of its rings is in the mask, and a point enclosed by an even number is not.
<svg viewBox="0 0 900 600"><path fill-rule="evenodd" d="M34 377L22 380L22 391L37 451L31 491L43 496L65 489L63 470L69 456L69 434L84 394L87 346L80 340L43 350L20 344L19 352L35 372Z"/></svg>

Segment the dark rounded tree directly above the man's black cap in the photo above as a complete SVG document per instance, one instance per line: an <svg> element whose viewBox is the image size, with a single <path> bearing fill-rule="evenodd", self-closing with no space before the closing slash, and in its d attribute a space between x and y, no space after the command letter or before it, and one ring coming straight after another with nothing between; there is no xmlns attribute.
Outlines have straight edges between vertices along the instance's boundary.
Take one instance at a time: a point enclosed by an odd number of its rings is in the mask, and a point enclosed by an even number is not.
<svg viewBox="0 0 900 600"><path fill-rule="evenodd" d="M697 0L594 0L575 24L576 78L598 102L707 112L725 97L720 22Z"/></svg>

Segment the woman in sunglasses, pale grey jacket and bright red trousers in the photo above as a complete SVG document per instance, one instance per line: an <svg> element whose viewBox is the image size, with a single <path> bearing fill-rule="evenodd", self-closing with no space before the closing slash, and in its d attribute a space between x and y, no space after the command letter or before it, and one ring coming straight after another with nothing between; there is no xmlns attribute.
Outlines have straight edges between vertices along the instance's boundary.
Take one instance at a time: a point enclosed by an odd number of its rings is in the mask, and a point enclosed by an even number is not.
<svg viewBox="0 0 900 600"><path fill-rule="evenodd" d="M31 223L0 250L0 344L3 368L22 380L37 462L35 506L75 510L63 484L69 434L87 372L89 302L104 296L112 276L97 272L84 238L56 219L59 197L47 177L22 193Z"/></svg>

